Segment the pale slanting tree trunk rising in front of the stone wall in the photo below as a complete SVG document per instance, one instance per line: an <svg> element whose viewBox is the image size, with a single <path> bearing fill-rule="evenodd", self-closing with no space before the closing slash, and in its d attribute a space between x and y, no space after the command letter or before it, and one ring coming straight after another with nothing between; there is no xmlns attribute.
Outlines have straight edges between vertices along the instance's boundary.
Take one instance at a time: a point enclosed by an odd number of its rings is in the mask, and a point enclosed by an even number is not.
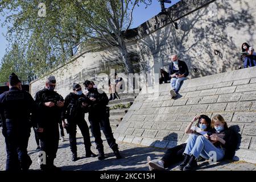
<svg viewBox="0 0 256 182"><path fill-rule="evenodd" d="M128 55L127 47L125 45L125 40L123 38L118 38L119 46L118 49L122 53L122 60L125 63L125 68L127 73L134 73L133 64L131 64L130 57Z"/></svg>

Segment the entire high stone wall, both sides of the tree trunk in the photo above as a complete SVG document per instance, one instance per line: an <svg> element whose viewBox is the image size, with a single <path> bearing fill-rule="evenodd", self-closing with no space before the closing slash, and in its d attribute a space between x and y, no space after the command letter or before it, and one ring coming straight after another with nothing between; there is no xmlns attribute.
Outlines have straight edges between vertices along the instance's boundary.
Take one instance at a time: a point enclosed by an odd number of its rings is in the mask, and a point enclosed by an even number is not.
<svg viewBox="0 0 256 182"><path fill-rule="evenodd" d="M136 55L137 72L154 74L159 73L159 68L167 71L168 56L172 53L186 61L191 78L241 67L238 53L241 44L256 45L255 10L256 1L253 0L180 1L168 9L179 30L175 30L164 15L157 15L137 28L136 39L131 38L128 43L129 52ZM214 55L215 49L220 51L218 55ZM73 82L91 79L98 84L96 75L108 74L110 67L122 72L119 57L116 48L82 52L49 75L56 76L56 90L65 96ZM31 82L32 95L43 85L44 78Z"/></svg>

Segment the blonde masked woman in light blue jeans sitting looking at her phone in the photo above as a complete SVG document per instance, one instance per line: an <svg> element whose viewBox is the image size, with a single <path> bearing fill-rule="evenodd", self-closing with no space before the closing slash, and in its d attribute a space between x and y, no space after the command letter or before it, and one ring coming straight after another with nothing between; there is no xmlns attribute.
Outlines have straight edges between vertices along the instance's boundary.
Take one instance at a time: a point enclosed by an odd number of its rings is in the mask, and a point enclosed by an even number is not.
<svg viewBox="0 0 256 182"><path fill-rule="evenodd" d="M190 171L197 167L196 159L199 156L210 159L216 156L216 161L226 158L233 158L237 147L237 135L229 130L227 123L221 115L212 118L212 133L204 135L190 135L184 151L184 161L180 169Z"/></svg>

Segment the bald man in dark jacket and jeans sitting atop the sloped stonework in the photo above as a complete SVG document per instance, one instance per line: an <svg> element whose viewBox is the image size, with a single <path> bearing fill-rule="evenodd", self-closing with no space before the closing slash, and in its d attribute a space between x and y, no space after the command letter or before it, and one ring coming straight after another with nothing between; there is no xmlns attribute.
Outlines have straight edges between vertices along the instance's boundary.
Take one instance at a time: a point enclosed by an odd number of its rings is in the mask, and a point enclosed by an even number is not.
<svg viewBox="0 0 256 182"><path fill-rule="evenodd" d="M181 81L187 80L189 74L187 64L178 59L177 55L170 57L169 74L171 78L171 96L176 97L180 89Z"/></svg>

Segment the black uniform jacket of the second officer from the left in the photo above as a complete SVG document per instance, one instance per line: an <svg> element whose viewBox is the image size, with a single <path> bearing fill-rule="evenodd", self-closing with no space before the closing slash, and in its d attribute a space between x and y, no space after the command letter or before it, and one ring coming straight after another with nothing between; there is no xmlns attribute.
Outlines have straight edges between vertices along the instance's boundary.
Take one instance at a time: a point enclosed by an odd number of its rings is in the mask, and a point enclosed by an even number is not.
<svg viewBox="0 0 256 182"><path fill-rule="evenodd" d="M36 102L36 122L38 127L51 126L53 123L61 122L61 113L63 107L53 106L47 107L44 105L45 102L56 102L62 97L55 91L50 91L46 88L39 90L35 96Z"/></svg>

